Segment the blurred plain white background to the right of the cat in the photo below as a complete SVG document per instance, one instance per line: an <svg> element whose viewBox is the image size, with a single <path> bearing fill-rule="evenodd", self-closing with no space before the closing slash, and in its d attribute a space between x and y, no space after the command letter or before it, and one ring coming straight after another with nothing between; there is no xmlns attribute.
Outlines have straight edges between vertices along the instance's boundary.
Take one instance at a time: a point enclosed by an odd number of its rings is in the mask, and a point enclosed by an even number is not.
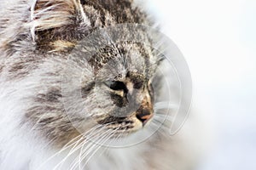
<svg viewBox="0 0 256 170"><path fill-rule="evenodd" d="M256 0L151 0L216 139L199 170L256 169Z"/></svg>

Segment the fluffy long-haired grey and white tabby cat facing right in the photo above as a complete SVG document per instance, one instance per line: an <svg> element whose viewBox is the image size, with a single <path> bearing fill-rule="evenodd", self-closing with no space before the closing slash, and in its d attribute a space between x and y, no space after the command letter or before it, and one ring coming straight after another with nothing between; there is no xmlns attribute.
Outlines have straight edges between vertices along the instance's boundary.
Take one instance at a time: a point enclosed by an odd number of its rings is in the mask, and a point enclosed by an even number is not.
<svg viewBox="0 0 256 170"><path fill-rule="evenodd" d="M138 37L152 43L156 37L144 36L144 28L137 27L154 26L142 4L133 0L4 3L0 169L195 167L200 150L195 124L185 123L171 136L172 121L166 116L164 122L166 113L158 113L155 106L166 94L157 71L166 61L153 48L132 42L130 25L125 25L135 24ZM122 24L123 31L113 31ZM106 35L99 29L109 27L113 29L104 42ZM113 37L130 40L113 42Z"/></svg>

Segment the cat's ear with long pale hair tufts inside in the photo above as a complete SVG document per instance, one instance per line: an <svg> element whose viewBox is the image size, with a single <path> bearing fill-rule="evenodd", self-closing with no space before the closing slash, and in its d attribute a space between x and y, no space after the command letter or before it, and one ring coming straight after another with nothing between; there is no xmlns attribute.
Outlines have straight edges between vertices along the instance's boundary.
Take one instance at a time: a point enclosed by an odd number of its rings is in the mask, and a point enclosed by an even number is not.
<svg viewBox="0 0 256 170"><path fill-rule="evenodd" d="M34 0L31 7L33 40L37 41L42 35L54 38L68 31L71 34L71 28L83 22L89 24L82 3L83 0Z"/></svg>

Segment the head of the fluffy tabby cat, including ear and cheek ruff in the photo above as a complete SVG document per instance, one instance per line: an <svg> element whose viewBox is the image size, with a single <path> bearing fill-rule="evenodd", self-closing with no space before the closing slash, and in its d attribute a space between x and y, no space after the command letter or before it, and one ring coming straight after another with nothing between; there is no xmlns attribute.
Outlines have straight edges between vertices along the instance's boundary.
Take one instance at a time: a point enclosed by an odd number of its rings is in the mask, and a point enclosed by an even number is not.
<svg viewBox="0 0 256 170"><path fill-rule="evenodd" d="M147 127L162 83L162 57L144 28L118 26L145 20L143 13L136 19L141 11L130 1L125 4L134 16L126 11L124 19L76 0L35 2L31 32L39 60L30 76L38 82L26 122L62 145L92 129L123 136ZM113 30L96 29L109 26Z"/></svg>

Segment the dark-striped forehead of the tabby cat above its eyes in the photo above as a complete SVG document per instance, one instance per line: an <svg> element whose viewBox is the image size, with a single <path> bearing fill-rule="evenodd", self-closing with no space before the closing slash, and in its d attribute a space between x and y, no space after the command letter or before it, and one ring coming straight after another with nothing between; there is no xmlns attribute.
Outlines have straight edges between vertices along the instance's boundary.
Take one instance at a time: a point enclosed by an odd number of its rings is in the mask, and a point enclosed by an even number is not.
<svg viewBox="0 0 256 170"><path fill-rule="evenodd" d="M142 43L122 42L99 50L90 63L102 79L123 79L127 74L150 78L157 67L152 48Z"/></svg>

